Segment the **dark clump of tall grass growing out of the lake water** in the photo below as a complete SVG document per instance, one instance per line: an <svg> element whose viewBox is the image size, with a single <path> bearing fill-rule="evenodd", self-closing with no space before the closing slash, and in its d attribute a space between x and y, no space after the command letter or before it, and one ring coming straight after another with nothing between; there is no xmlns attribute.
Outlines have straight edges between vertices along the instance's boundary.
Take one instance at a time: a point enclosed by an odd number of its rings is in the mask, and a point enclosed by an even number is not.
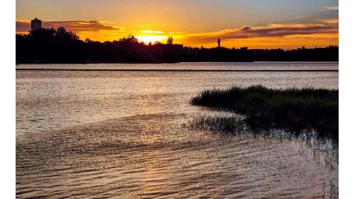
<svg viewBox="0 0 355 199"><path fill-rule="evenodd" d="M338 90L234 86L202 91L190 103L244 114L253 129L288 128L295 132L314 129L320 137L338 140Z"/></svg>

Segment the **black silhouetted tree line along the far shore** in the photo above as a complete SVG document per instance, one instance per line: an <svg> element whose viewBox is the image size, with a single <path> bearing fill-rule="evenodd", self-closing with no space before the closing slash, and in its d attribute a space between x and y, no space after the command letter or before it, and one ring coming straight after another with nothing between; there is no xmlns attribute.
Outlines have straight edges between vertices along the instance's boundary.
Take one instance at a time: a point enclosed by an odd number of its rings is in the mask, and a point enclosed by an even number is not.
<svg viewBox="0 0 355 199"><path fill-rule="evenodd" d="M16 35L16 62L28 63L175 63L175 62L254 62L254 61L338 61L339 47L298 48L297 50L250 50L248 47L185 47L167 42L139 42L133 35L119 40L80 40L72 32L41 28Z"/></svg>

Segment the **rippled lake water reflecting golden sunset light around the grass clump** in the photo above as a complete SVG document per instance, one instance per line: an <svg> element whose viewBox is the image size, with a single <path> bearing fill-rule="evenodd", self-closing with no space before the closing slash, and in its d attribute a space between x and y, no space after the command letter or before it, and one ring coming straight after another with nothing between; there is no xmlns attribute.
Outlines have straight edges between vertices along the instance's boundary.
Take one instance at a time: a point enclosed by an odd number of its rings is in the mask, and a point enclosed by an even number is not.
<svg viewBox="0 0 355 199"><path fill-rule="evenodd" d="M19 64L45 69L338 69L337 62ZM184 126L204 89L338 89L338 72L16 71L17 198L322 198L338 169L300 140Z"/></svg>

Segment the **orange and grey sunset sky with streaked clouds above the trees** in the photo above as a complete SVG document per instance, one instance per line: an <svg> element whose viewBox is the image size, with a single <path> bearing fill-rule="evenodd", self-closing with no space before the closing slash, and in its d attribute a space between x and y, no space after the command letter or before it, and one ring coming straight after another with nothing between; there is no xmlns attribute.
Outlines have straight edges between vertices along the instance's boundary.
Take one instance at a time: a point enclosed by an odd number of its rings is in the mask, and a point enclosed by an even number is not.
<svg viewBox="0 0 355 199"><path fill-rule="evenodd" d="M45 28L64 26L84 40L143 41L194 47L295 48L338 45L334 0L16 0L16 33L40 18Z"/></svg>

